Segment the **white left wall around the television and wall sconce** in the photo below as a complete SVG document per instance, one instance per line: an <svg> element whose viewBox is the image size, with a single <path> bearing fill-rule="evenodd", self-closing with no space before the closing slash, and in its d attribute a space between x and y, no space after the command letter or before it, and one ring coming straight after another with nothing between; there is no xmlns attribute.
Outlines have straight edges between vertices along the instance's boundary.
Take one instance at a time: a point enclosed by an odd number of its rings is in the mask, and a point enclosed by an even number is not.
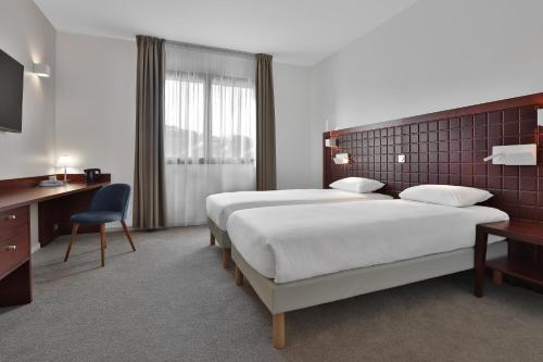
<svg viewBox="0 0 543 362"><path fill-rule="evenodd" d="M31 73L36 62L49 64L54 75L54 38L31 0L0 1L0 49L25 66L23 132L0 132L0 179L54 172L54 76Z"/></svg>

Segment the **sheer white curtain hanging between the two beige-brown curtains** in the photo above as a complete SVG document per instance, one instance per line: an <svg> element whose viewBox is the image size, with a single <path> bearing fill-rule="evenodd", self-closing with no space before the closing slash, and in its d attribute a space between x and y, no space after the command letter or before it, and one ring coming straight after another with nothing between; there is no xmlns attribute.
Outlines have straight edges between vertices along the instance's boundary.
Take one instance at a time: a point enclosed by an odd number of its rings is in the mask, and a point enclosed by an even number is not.
<svg viewBox="0 0 543 362"><path fill-rule="evenodd" d="M165 46L166 222L204 224L205 198L255 189L255 59Z"/></svg>

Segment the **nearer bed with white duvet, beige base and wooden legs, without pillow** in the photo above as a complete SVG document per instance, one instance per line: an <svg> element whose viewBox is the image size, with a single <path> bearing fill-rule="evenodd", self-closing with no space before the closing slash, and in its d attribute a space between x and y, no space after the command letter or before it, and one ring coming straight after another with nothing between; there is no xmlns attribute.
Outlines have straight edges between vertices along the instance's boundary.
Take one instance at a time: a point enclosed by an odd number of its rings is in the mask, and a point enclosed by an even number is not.
<svg viewBox="0 0 543 362"><path fill-rule="evenodd" d="M243 276L269 309L274 346L285 345L285 312L473 266L476 225L503 211L408 200L240 210L228 219L236 283ZM489 238L488 257L506 254Z"/></svg>

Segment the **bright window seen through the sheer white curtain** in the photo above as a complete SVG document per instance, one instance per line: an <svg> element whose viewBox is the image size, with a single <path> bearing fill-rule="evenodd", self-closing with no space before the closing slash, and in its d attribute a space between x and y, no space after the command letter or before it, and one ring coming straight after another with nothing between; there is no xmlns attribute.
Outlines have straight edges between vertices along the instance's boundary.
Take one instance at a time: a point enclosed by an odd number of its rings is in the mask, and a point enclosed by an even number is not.
<svg viewBox="0 0 543 362"><path fill-rule="evenodd" d="M254 84L168 73L165 82L167 163L254 163Z"/></svg>

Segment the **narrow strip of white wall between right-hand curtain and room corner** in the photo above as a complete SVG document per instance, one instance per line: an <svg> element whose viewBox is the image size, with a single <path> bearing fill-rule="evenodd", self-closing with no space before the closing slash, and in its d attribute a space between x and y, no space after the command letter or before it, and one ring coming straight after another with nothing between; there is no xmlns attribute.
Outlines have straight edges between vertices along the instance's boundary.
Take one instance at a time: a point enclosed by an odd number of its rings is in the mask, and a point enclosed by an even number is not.
<svg viewBox="0 0 543 362"><path fill-rule="evenodd" d="M307 188L311 178L311 68L274 63L277 187Z"/></svg>

